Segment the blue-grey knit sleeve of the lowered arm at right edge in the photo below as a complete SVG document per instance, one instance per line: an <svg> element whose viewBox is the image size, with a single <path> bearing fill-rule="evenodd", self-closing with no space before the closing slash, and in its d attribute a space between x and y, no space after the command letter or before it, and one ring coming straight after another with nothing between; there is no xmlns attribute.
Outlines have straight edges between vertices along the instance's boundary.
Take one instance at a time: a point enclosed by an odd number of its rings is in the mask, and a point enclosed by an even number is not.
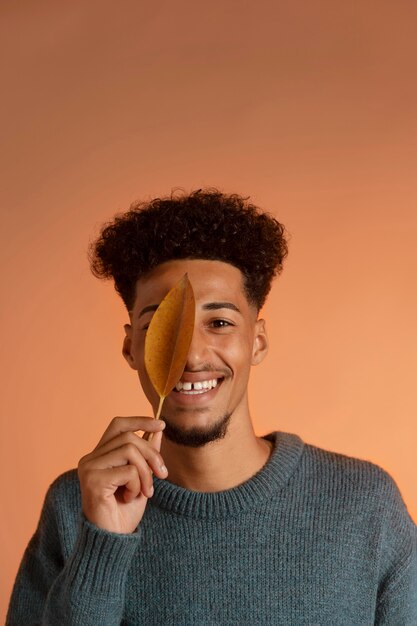
<svg viewBox="0 0 417 626"><path fill-rule="evenodd" d="M384 524L376 626L417 624L417 527L394 479L385 473Z"/></svg>

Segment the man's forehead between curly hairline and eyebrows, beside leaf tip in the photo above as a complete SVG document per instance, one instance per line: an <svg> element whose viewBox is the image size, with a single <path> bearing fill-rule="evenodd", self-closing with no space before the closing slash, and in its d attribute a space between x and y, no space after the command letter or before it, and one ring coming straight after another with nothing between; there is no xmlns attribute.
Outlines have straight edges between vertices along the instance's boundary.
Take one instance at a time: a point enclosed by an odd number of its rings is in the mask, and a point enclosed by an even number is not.
<svg viewBox="0 0 417 626"><path fill-rule="evenodd" d="M138 280L135 309L159 304L185 273L188 274L197 304L227 301L249 308L243 274L237 267L222 261L179 259L161 263Z"/></svg>

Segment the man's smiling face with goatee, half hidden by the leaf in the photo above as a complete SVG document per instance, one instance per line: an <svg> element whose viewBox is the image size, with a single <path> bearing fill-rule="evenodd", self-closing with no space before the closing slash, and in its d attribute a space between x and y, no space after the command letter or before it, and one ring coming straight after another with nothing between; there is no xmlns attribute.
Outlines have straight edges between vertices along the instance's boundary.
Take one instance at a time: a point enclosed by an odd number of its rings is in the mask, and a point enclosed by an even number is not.
<svg viewBox="0 0 417 626"><path fill-rule="evenodd" d="M155 413L159 397L144 364L146 329L153 311L142 311L159 305L186 272L196 301L194 334L181 376L183 387L165 398L161 417L167 424L164 436L197 447L224 437L231 418L248 417L249 372L266 355L267 338L264 321L257 320L256 308L247 301L243 275L233 265L187 259L156 267L137 283L123 345L123 354L137 370Z"/></svg>

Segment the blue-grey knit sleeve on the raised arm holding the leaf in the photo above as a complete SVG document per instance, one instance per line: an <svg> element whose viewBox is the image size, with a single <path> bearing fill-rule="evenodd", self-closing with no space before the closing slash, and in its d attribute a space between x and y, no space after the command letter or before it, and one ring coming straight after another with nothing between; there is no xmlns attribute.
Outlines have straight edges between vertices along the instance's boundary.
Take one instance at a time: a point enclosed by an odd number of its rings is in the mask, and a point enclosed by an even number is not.
<svg viewBox="0 0 417 626"><path fill-rule="evenodd" d="M108 532L81 513L69 558L63 556L55 483L14 583L6 626L115 626L124 608L126 577L141 530Z"/></svg>

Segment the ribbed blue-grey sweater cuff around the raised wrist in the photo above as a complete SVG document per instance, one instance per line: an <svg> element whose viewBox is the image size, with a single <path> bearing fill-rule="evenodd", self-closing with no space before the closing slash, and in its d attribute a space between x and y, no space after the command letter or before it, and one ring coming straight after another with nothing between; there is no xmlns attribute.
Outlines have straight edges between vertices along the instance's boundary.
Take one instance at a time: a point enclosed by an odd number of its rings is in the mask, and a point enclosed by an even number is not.
<svg viewBox="0 0 417 626"><path fill-rule="evenodd" d="M75 593L120 597L142 537L140 526L131 534L98 528L82 513L77 541L67 564L68 582Z"/></svg>

